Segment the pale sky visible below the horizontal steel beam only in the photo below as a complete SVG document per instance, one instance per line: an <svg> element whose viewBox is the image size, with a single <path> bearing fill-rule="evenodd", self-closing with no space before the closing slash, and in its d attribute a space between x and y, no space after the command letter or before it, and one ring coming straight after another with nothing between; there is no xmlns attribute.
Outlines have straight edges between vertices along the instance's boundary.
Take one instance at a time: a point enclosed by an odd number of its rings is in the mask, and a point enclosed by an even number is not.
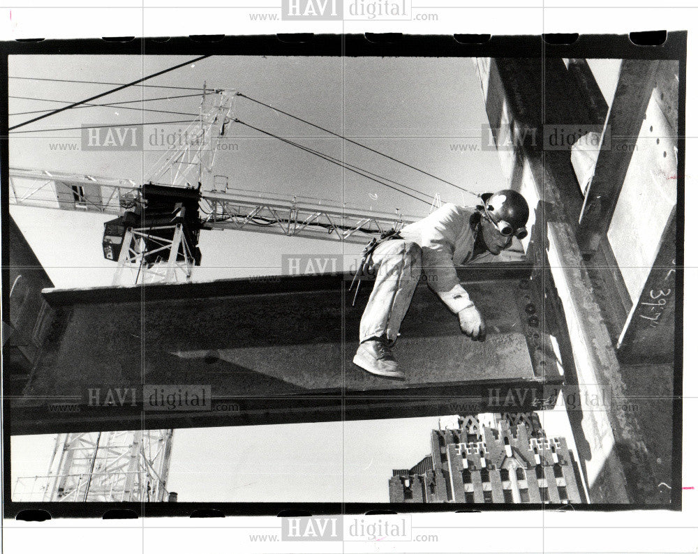
<svg viewBox="0 0 698 554"><path fill-rule="evenodd" d="M573 451L565 407L536 412ZM388 502L392 470L431 452L438 417L175 429L168 491L180 502ZM45 475L54 435L10 438L12 481Z"/></svg>

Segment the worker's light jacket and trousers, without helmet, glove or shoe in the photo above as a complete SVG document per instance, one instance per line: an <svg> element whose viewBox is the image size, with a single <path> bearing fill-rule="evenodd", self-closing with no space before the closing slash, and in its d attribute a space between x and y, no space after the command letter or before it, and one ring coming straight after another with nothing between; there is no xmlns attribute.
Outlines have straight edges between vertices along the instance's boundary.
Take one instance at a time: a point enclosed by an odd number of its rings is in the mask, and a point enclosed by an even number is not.
<svg viewBox="0 0 698 554"><path fill-rule="evenodd" d="M383 335L391 342L397 338L422 271L431 290L453 313L473 305L455 265L473 259L476 232L471 221L475 213L475 208L443 204L426 218L403 227L403 239L376 247L371 265L376 283L361 318L361 342Z"/></svg>

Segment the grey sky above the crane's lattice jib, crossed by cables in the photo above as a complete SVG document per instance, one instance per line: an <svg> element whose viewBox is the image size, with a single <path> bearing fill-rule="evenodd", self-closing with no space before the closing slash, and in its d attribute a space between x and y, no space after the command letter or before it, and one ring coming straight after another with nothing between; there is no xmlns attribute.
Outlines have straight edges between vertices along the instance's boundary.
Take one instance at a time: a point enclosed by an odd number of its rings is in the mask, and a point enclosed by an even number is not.
<svg viewBox="0 0 698 554"><path fill-rule="evenodd" d="M57 63L53 57L31 57L31 62L27 57L12 57L10 75L128 82L183 60L186 58L75 56L64 57ZM469 156L463 151L450 150L450 144L456 139L480 142L481 126L486 122L480 83L470 59L211 57L198 61L193 67L185 66L147 82L177 87L202 87L204 83L207 87L235 89L335 133L360 139L385 154L424 167L460 186L477 189L504 183L496 169L496 152L470 153ZM108 85L10 79L10 96L52 100L80 100L110 88ZM195 93L134 87L96 102ZM144 103L144 107L195 114L199 103L197 96L158 100ZM10 114L57 106L60 104L10 98ZM11 116L10 126L29 117L34 114ZM284 137L305 137L304 144L336 157L341 156L343 147L344 156L351 163L380 170L425 193L438 191L444 200L461 200L455 188L242 97L237 99L235 117ZM67 110L17 131L179 119L187 117L126 111L123 107L88 107ZM341 168L244 126L230 126L228 133L235 138L238 149L217 160L216 172L225 174L231 186L290 195L321 195L335 201L343 198L365 208L372 205L375 209L389 211L394 207L401 207L408 213L424 210L423 204L355 174L346 174L346 181L343 181ZM13 134L10 160L19 167L50 167L138 181L158 157L158 152L154 151L116 154L77 151L70 155L51 149L53 142L68 137L79 142L80 131ZM376 195L378 199L373 200Z"/></svg>

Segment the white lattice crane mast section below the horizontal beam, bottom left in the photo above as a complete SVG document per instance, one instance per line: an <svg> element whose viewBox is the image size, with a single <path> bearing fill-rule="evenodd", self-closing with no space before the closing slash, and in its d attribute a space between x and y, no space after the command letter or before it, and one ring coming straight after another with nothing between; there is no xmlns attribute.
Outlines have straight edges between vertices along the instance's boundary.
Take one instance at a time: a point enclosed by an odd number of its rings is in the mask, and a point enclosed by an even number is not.
<svg viewBox="0 0 698 554"><path fill-rule="evenodd" d="M15 481L15 502L166 502L172 430L57 435L47 475Z"/></svg>

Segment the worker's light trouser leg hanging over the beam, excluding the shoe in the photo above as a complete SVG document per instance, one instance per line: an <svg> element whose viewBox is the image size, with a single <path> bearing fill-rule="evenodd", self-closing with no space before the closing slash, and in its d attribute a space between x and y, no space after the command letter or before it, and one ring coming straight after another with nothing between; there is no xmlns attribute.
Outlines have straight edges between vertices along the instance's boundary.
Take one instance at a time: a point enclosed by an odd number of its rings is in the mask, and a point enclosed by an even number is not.
<svg viewBox="0 0 698 554"><path fill-rule="evenodd" d="M373 252L373 274L376 282L361 318L359 340L387 336L394 341L422 275L422 249L410 241L385 241Z"/></svg>

